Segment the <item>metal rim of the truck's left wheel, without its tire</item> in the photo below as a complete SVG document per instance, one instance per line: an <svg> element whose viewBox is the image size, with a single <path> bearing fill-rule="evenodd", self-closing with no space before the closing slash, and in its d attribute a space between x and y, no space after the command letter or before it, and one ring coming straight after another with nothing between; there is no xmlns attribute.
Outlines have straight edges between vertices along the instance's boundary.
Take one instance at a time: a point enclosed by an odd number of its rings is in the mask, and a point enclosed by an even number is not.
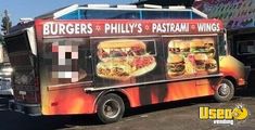
<svg viewBox="0 0 255 130"><path fill-rule="evenodd" d="M107 100L103 105L103 114L107 118L116 118L120 113L120 105L117 101Z"/></svg>

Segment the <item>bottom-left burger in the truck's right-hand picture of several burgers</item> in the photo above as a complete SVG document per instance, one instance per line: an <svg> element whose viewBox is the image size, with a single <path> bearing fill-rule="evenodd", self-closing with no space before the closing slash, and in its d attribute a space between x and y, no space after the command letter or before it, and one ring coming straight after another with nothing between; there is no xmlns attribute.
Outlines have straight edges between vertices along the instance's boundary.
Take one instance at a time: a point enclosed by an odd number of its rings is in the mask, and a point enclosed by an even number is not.
<svg viewBox="0 0 255 130"><path fill-rule="evenodd" d="M184 73L184 58L180 54L169 54L167 58L167 75L169 77L176 77L181 76Z"/></svg>

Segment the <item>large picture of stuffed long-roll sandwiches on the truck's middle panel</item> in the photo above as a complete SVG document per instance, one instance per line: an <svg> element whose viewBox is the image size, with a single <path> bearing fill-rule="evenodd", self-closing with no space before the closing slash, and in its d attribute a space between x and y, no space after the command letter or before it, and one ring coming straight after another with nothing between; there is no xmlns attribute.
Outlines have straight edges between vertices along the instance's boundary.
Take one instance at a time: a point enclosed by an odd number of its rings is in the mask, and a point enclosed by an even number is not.
<svg viewBox="0 0 255 130"><path fill-rule="evenodd" d="M127 80L153 70L156 61L146 52L143 41L136 39L106 40L98 44L99 77Z"/></svg>

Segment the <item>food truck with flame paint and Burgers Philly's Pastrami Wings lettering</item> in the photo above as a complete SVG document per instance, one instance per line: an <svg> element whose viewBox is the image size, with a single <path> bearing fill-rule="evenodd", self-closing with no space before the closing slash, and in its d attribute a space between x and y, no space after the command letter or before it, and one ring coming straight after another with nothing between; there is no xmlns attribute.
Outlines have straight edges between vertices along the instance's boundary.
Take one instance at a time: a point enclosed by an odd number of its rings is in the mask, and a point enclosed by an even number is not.
<svg viewBox="0 0 255 130"><path fill-rule="evenodd" d="M13 27L5 42L9 107L29 115L97 114L109 123L128 107L208 95L227 102L246 83L221 21L193 9L73 5Z"/></svg>

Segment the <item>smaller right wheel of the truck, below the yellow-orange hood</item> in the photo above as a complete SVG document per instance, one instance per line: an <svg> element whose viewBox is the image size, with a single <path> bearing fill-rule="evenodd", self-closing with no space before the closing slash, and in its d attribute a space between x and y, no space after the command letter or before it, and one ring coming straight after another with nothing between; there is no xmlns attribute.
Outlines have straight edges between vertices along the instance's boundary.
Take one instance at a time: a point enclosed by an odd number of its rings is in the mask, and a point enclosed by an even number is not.
<svg viewBox="0 0 255 130"><path fill-rule="evenodd" d="M234 86L229 79L222 79L215 90L214 98L217 102L228 102L234 95Z"/></svg>

